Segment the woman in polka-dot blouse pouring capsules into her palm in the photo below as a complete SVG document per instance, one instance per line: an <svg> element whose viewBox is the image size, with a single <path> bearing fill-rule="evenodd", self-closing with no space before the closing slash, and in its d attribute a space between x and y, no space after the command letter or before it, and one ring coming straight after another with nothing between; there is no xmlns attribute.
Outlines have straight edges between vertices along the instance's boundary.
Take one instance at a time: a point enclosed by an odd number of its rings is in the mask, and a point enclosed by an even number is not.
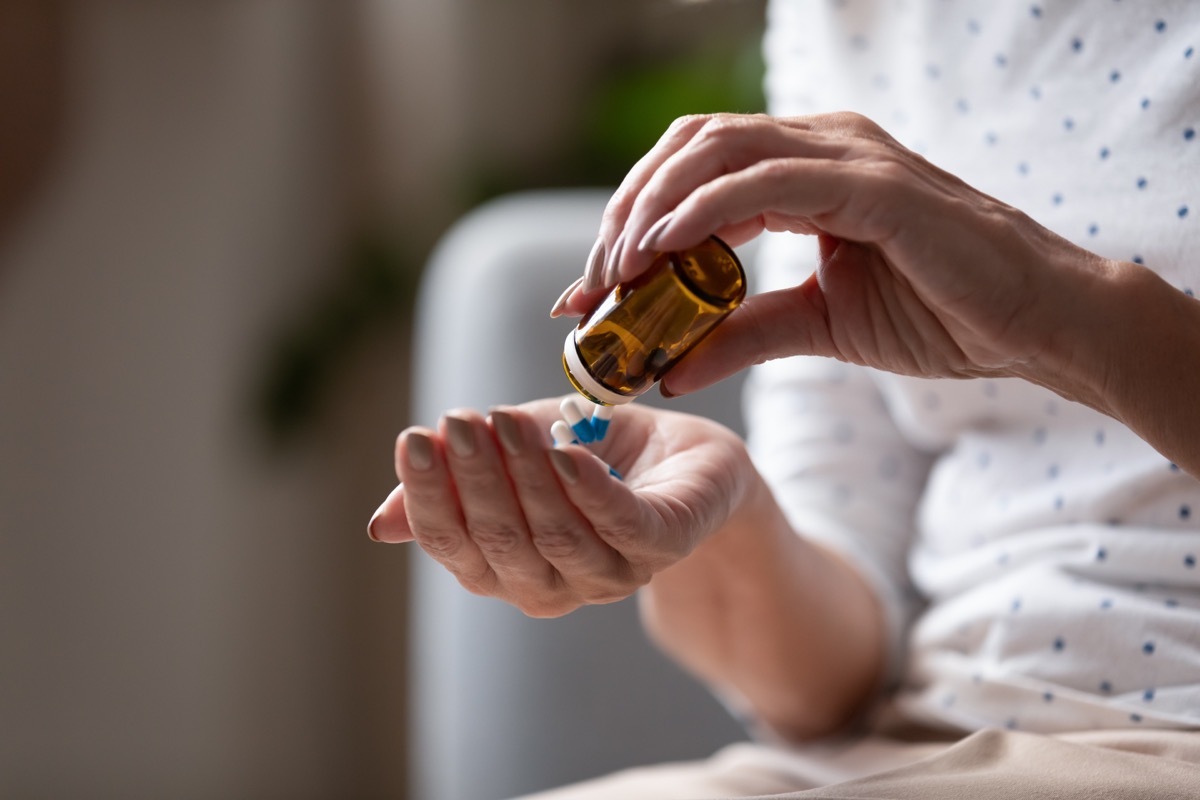
<svg viewBox="0 0 1200 800"><path fill-rule="evenodd" d="M768 31L773 116L667 131L554 308L770 231L773 290L662 386L769 361L749 449L630 407L620 483L541 444L554 402L458 411L401 437L373 535L534 615L640 590L782 742L556 798L1194 796L1200 8L776 0Z"/></svg>

